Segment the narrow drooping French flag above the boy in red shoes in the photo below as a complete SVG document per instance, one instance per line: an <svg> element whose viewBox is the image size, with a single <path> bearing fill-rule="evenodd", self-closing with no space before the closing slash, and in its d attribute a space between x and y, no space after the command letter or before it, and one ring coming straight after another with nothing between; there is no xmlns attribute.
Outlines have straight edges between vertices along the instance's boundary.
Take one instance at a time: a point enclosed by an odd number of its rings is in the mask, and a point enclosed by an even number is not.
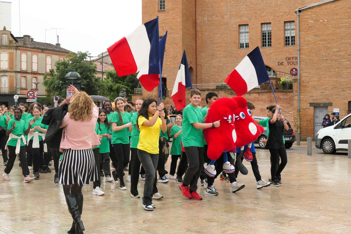
<svg viewBox="0 0 351 234"><path fill-rule="evenodd" d="M185 107L185 88L192 87L190 72L188 67L188 61L186 59L185 50L183 52L183 57L181 58L176 82L174 83L172 91L172 99L174 104L176 104L177 110L180 111Z"/></svg>

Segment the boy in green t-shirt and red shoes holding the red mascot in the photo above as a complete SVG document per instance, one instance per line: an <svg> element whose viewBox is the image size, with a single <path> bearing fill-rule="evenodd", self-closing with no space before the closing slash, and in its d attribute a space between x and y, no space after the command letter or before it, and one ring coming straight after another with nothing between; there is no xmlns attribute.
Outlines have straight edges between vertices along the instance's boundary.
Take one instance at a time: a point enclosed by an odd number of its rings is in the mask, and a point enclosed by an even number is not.
<svg viewBox="0 0 351 234"><path fill-rule="evenodd" d="M183 183L179 186L185 198L202 200L196 192L197 182L201 169L204 165L204 134L202 129L219 127L220 121L203 123L207 115L203 117L201 109L201 92L199 89L190 91L190 104L184 108L182 142L188 158L188 169L185 172Z"/></svg>

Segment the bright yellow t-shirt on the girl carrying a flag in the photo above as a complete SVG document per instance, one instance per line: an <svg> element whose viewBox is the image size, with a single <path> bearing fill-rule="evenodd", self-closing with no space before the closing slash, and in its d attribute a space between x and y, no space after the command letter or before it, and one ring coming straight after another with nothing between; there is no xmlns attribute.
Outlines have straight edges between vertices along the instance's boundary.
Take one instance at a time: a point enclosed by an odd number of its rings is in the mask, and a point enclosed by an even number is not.
<svg viewBox="0 0 351 234"><path fill-rule="evenodd" d="M149 120L152 117L149 116ZM138 125L140 129L138 149L146 151L149 154L158 154L158 140L160 138L160 125L162 121L160 118L157 118L154 126L147 127L142 125L146 118L140 116L138 119Z"/></svg>

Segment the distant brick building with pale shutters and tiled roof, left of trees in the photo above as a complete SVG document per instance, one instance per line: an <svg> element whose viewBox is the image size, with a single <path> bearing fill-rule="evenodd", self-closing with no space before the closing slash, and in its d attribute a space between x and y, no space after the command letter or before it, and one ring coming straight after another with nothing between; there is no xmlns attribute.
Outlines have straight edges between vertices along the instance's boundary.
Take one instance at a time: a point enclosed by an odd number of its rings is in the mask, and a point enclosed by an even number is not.
<svg viewBox="0 0 351 234"><path fill-rule="evenodd" d="M57 60L72 56L71 51L60 44L34 41L29 35L15 37L6 27L0 30L0 35L0 105L14 105L14 94L19 95L18 103L26 102L31 89L37 90L38 97L45 96L44 74L54 68Z"/></svg>

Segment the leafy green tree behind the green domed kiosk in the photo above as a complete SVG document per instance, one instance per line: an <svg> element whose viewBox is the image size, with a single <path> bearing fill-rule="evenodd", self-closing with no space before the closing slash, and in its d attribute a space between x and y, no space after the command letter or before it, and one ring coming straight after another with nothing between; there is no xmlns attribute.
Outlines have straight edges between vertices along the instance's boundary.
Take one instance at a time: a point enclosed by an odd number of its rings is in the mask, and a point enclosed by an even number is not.
<svg viewBox="0 0 351 234"><path fill-rule="evenodd" d="M50 69L49 74L44 75L43 85L46 87L48 98L54 96L66 97L66 88L62 87L62 83L66 83L65 75L72 69L81 76L80 82L85 83L85 88L81 91L87 92L89 95L106 95L106 87L101 77L97 77L97 66L93 61L86 60L90 55L88 52L78 52L72 54L73 57L66 56L64 60L55 62L55 69Z"/></svg>

